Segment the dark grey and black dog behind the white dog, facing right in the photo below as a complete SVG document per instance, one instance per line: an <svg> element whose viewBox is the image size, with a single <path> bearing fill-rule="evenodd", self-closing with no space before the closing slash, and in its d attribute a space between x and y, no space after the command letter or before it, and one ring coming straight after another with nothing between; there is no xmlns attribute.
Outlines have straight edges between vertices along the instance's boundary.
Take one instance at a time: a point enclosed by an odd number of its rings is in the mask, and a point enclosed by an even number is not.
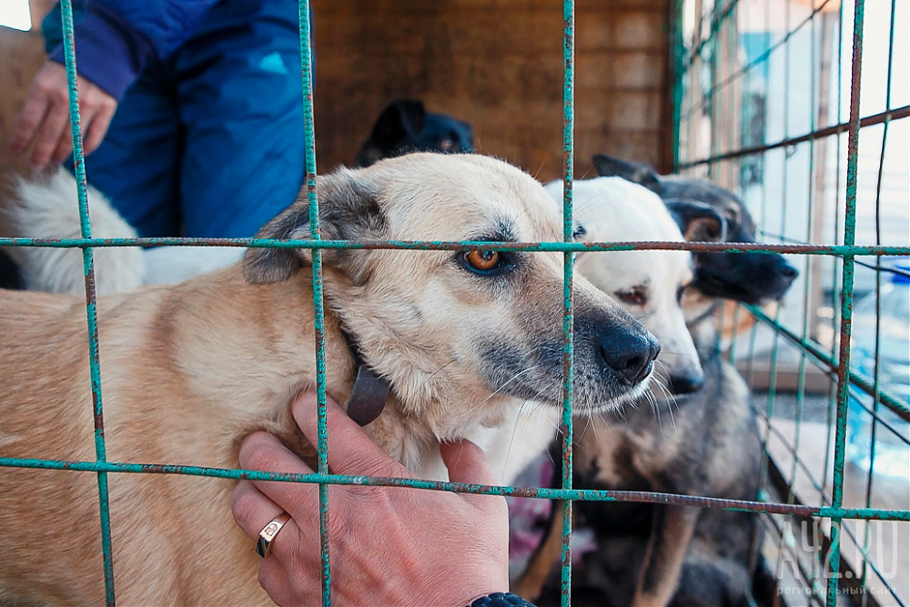
<svg viewBox="0 0 910 607"><path fill-rule="evenodd" d="M755 240L743 201L722 187L659 176L647 165L618 158L598 155L593 161L602 177L623 177L662 197L688 240ZM693 260L693 281L681 303L703 370L702 388L678 390L656 410L642 401L638 409L596 424L596 433L581 432L576 488L755 499L761 442L751 395L721 358L711 312L721 298L746 303L781 298L797 272L780 255L695 253ZM656 413L661 409L662 419ZM596 549L574 569L573 602L745 604L757 561L758 521L752 514L600 501L579 502L576 514L576 526L593 531ZM551 535L558 535L557 528L551 525ZM541 604L558 598L559 584L553 582L551 576Z"/></svg>

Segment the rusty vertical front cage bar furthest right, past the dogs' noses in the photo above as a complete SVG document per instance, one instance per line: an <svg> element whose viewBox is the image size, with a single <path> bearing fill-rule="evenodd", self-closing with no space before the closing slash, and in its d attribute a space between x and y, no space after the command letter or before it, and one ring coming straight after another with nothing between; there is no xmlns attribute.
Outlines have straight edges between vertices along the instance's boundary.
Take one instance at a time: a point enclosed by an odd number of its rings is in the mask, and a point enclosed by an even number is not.
<svg viewBox="0 0 910 607"><path fill-rule="evenodd" d="M859 101L863 66L863 25L865 0L855 0L853 58L850 76L850 126L847 137L847 187L844 200L844 245L852 246L856 236L856 182L859 149ZM854 256L844 256L844 284L841 292L841 330L837 359L837 428L834 433L834 477L831 503L840 508L844 501L844 445L847 430L847 401L850 388L850 334L853 325ZM828 561L827 604L837 602L837 580L841 556L841 517L831 519L831 551Z"/></svg>

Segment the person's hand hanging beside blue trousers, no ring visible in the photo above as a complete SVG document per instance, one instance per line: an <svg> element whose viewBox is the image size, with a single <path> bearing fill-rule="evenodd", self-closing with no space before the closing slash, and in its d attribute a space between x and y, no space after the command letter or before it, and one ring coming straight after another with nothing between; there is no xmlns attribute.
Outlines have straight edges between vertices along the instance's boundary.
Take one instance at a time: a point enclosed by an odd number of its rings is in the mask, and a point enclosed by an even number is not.
<svg viewBox="0 0 910 607"><path fill-rule="evenodd" d="M91 154L101 145L114 117L117 102L84 76L76 76L83 151ZM73 151L69 124L69 88L66 67L48 61L38 70L25 98L25 106L13 131L11 147L21 154L35 142L32 167L59 164Z"/></svg>

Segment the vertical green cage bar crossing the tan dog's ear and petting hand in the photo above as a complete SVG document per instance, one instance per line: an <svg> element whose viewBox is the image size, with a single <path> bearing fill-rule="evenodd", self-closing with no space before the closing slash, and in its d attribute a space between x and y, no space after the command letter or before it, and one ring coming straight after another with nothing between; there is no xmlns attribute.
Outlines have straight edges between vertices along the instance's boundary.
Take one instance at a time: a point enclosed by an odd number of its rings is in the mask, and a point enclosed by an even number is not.
<svg viewBox="0 0 910 607"><path fill-rule="evenodd" d="M313 70L310 46L309 0L298 0L300 27L300 81L303 90L303 135L306 144L306 181L309 211L309 238L319 240L319 198L316 195L316 137L313 126ZM322 298L322 249L312 249L313 324L316 338L316 398L318 420L317 453L319 474L329 473L329 440L326 434L326 339ZM322 563L322 604L331 604L329 567L329 486L319 483L319 552Z"/></svg>

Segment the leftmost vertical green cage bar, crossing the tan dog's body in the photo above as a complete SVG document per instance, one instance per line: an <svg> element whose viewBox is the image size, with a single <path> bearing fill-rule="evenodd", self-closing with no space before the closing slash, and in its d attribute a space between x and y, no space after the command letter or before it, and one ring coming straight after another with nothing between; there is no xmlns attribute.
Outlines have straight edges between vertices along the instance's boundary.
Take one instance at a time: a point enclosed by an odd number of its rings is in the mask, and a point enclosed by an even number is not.
<svg viewBox="0 0 910 607"><path fill-rule="evenodd" d="M73 164L76 168L76 196L79 201L79 228L82 238L92 238L86 193L86 159L82 150L79 125L79 92L76 88L76 45L73 35L73 2L61 0L63 52L66 62L66 86L69 88L69 118L73 135ZM98 323L95 294L95 258L92 248L82 249L82 267L86 276L86 317L88 321L88 369L92 386L92 411L95 418L95 459L106 461L105 420L101 400L101 359L98 354ZM110 508L107 494L107 473L98 472L98 511L101 515L101 551L104 558L105 601L115 604L114 553L111 549Z"/></svg>

